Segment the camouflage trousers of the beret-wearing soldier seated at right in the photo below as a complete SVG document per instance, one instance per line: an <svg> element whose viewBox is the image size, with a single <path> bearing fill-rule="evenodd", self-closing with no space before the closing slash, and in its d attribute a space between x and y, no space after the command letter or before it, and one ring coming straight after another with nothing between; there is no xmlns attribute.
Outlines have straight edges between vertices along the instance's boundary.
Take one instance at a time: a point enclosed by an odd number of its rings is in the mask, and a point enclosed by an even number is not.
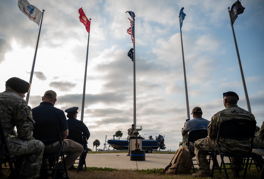
<svg viewBox="0 0 264 179"><path fill-rule="evenodd" d="M211 139L206 137L204 139L199 139L194 143L196 154L196 161L198 164L199 170L204 170L206 172L210 172L210 164L206 159L206 153L214 152L216 149L216 139ZM222 152L226 152L224 148L221 148ZM241 158L231 158L231 163L242 163L243 159ZM230 168L241 168L238 165L230 165Z"/></svg>

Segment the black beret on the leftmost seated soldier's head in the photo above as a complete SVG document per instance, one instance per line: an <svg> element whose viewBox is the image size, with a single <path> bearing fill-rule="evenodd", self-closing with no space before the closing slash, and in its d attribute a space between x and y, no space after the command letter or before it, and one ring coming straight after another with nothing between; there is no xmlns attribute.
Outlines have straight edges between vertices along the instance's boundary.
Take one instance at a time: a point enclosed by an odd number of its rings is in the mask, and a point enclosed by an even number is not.
<svg viewBox="0 0 264 179"><path fill-rule="evenodd" d="M30 89L30 83L17 77L8 79L6 84L18 93L27 93Z"/></svg>

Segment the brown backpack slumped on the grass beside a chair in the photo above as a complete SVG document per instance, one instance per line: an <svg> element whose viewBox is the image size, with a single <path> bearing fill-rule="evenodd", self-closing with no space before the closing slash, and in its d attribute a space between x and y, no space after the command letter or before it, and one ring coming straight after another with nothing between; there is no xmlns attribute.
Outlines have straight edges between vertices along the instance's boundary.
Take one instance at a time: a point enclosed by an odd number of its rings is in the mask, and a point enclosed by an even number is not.
<svg viewBox="0 0 264 179"><path fill-rule="evenodd" d="M182 173L192 169L192 156L189 149L180 147L174 154L169 165L164 168L162 173Z"/></svg>

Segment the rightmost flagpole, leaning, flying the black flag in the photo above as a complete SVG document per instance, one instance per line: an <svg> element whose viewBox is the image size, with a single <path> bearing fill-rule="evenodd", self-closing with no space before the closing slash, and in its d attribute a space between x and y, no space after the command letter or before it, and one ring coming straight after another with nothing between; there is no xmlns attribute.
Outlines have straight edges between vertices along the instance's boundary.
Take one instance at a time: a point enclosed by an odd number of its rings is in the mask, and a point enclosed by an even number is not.
<svg viewBox="0 0 264 179"><path fill-rule="evenodd" d="M251 108L250 108L250 104L249 104L249 99L248 99L246 82L245 82L245 79L244 79L243 69L242 69L242 65L241 65L241 61L240 61L240 56L239 56L239 52L238 52L238 47L237 47L237 40L235 38L235 31L234 31L234 27L233 27L233 23L232 23L232 18L231 18L231 13L230 13L229 8L230 7L228 7L228 12L229 12L229 17L230 17L232 32L233 32L233 36L234 36L234 41L235 41L235 48L237 50L238 63L239 63L239 67L240 67L240 72L241 72L241 77L242 77L242 83L243 83L244 92L245 92L245 96L246 96L247 108L248 108L248 111L251 112Z"/></svg>

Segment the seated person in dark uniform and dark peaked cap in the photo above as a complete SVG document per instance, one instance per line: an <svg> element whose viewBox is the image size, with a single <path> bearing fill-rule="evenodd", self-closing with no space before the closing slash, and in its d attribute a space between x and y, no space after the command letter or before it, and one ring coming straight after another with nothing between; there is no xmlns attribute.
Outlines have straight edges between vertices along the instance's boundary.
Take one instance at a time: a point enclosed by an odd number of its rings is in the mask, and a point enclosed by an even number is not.
<svg viewBox="0 0 264 179"><path fill-rule="evenodd" d="M84 144L83 149L84 149L85 158L82 157L81 166L80 166L80 170L83 170L83 164L84 164L84 161L86 159L87 150L88 150L87 140L90 137L90 132L89 132L89 129L87 128L87 126L84 124L84 122L77 119L77 113L78 113L77 110L78 109L79 109L78 107L72 107L72 108L66 109L64 112L67 113L67 118L69 118L69 119L67 119L68 129L79 130L83 133L83 144ZM77 169L73 165L71 166L71 168Z"/></svg>

